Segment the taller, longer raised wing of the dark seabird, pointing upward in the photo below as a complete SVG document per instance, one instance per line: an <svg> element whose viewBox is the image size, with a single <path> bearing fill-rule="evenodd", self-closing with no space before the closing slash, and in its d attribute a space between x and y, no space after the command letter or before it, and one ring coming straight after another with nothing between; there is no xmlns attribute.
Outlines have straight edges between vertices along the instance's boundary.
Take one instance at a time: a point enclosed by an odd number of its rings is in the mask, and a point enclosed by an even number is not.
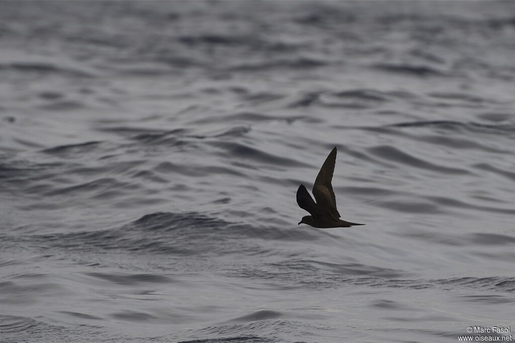
<svg viewBox="0 0 515 343"><path fill-rule="evenodd" d="M317 204L327 210L335 219L340 218L336 209L336 197L334 196L333 179L334 164L336 163L336 147L329 153L325 162L318 172L315 184L313 185L313 196Z"/></svg>

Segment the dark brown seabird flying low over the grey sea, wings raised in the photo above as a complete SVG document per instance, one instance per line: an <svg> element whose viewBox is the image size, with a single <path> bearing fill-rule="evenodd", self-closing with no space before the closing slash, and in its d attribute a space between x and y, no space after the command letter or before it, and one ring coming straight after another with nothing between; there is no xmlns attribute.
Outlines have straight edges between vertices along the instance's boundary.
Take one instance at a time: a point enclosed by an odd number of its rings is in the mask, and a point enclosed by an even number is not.
<svg viewBox="0 0 515 343"><path fill-rule="evenodd" d="M310 193L307 192L306 187L304 187L304 185L299 186L297 190L297 204L299 204L300 208L311 214L303 216L299 225L307 224L322 229L365 225L350 223L340 219L340 213L338 213L336 209L336 198L334 196L333 186L331 185L335 163L336 147L334 147L329 156L325 159L315 179L312 192L317 201L316 203L313 201Z"/></svg>

